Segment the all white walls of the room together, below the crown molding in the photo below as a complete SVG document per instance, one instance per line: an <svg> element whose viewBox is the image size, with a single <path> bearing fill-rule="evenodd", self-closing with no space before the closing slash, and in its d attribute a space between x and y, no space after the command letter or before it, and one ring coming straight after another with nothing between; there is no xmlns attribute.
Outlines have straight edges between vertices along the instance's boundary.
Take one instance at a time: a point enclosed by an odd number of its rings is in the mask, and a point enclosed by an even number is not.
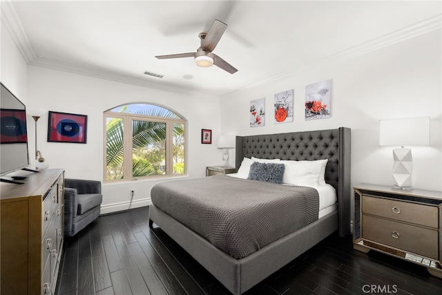
<svg viewBox="0 0 442 295"><path fill-rule="evenodd" d="M66 169L68 178L102 180L103 112L119 104L153 102L169 106L189 120L189 175L204 175L206 165L222 164L217 135L281 133L348 126L352 129L352 183L392 184L392 148L378 146L378 120L394 117L432 118L431 146L412 147L414 187L442 190L441 156L441 31L355 57L316 67L294 77L222 99L179 95L131 84L27 66L8 32L1 26L1 82L27 106L46 113L39 120L38 147L50 167ZM332 117L304 120L305 85L332 79ZM273 124L273 95L294 89L294 122ZM266 97L266 126L249 127L249 104ZM88 143L46 142L47 111L88 115ZM28 116L29 117L29 116ZM28 118L30 155L34 122ZM200 144L201 129L213 130L213 144ZM230 163L234 151L230 150ZM31 159L33 160L33 158ZM128 208L129 190L135 206L148 202L156 181L104 184L102 213Z"/></svg>

